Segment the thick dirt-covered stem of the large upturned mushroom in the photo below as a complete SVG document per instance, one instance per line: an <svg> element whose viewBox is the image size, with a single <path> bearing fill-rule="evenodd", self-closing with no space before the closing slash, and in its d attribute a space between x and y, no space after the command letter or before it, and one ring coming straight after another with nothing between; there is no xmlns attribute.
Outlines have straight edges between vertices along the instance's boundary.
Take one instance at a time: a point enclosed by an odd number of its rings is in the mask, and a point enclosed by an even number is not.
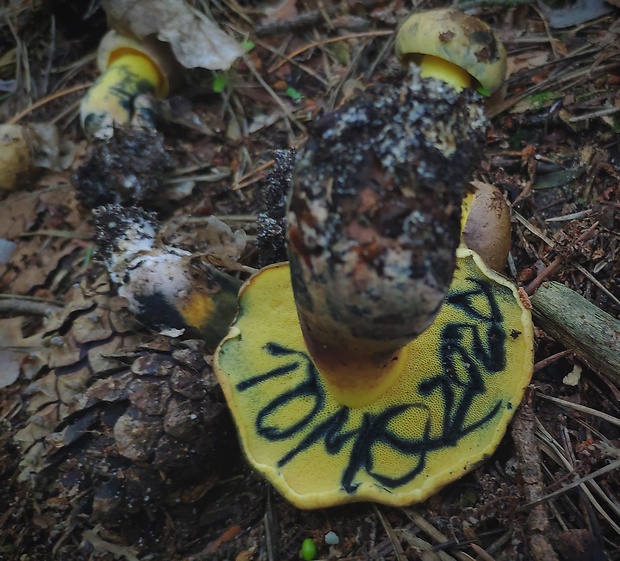
<svg viewBox="0 0 620 561"><path fill-rule="evenodd" d="M461 201L486 118L480 96L413 76L324 117L300 153L288 249L302 333L337 399L365 405L448 292Z"/></svg>

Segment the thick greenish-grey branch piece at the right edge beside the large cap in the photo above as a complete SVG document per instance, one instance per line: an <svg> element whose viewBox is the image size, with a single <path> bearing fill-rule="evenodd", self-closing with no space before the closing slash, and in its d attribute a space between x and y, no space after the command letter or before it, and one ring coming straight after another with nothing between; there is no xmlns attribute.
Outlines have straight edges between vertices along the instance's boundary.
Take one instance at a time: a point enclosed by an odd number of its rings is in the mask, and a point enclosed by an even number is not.
<svg viewBox="0 0 620 561"><path fill-rule="evenodd" d="M544 283L531 301L536 325L620 383L620 321L557 282Z"/></svg>

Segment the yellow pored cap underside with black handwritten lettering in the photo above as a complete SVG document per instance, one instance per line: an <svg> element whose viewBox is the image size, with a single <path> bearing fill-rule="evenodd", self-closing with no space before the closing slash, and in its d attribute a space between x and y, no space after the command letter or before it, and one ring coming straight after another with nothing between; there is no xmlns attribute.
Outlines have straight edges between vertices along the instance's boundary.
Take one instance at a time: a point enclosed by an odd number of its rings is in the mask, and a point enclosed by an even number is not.
<svg viewBox="0 0 620 561"><path fill-rule="evenodd" d="M251 465L299 508L425 500L493 453L529 383L533 334L519 293L471 250L436 321L407 345L378 399L342 405L314 366L287 264L240 293L214 368Z"/></svg>

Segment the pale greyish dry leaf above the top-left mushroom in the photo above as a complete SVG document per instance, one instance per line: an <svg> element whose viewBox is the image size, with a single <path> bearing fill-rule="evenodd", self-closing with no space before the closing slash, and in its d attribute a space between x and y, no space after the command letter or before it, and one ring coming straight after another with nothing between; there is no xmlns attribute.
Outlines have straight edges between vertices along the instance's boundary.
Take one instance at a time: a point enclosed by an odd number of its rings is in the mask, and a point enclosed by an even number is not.
<svg viewBox="0 0 620 561"><path fill-rule="evenodd" d="M185 68L227 70L243 54L241 46L206 15L183 0L103 0L110 27L142 39L170 43Z"/></svg>

